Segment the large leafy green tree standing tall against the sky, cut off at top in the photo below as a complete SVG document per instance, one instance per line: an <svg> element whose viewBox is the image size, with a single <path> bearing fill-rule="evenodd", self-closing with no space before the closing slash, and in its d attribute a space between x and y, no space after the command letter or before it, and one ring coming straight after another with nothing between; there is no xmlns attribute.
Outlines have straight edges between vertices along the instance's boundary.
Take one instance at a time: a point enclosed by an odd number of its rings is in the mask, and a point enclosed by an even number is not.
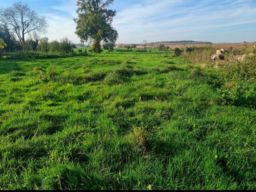
<svg viewBox="0 0 256 192"><path fill-rule="evenodd" d="M76 34L81 42L93 42L95 52L100 52L100 42L115 44L118 38L116 29L112 27L113 17L116 11L108 9L114 0L78 0L77 14L74 19Z"/></svg>

